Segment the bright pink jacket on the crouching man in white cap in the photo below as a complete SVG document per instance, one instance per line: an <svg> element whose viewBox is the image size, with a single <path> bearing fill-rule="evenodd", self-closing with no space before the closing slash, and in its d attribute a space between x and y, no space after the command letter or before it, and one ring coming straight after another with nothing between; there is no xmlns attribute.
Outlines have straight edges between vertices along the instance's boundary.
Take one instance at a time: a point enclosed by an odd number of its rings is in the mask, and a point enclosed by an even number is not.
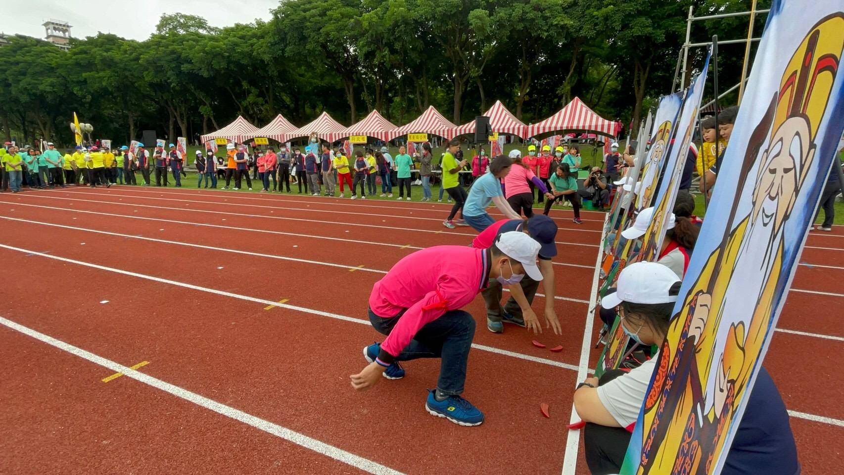
<svg viewBox="0 0 844 475"><path fill-rule="evenodd" d="M370 294L373 313L398 318L381 343L378 359L392 363L420 328L446 310L468 305L486 287L489 277L490 259L485 249L434 246L405 256L375 283Z"/></svg>

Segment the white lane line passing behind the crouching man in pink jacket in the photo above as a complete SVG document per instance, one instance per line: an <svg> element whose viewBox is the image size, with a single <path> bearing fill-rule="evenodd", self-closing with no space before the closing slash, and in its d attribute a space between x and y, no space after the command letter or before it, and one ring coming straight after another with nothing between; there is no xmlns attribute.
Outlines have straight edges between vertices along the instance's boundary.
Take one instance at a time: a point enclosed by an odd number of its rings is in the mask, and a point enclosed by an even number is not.
<svg viewBox="0 0 844 475"><path fill-rule="evenodd" d="M354 323L360 323L361 325L371 325L371 323L368 319L364 320L364 319L361 319L361 318L354 318L352 316L344 316L344 315L339 315L339 314L331 313L331 312L327 312L327 311L314 310L314 309L309 309L309 308L306 308L306 307L300 307L298 305L281 304L281 303L273 301L273 300L259 299L257 297L250 297L248 295L234 294L232 292L226 292L225 290L209 289L208 287L199 287L199 286L193 285L191 283L184 283L184 282L178 282L176 280L170 280L169 278L160 278L160 277L154 277L154 276L142 274L142 273L133 273L132 271L124 271L123 269L118 269L118 268L115 268L115 267L106 267L106 266L100 266L99 264L92 264L90 262L77 261L75 259L70 259L68 257L51 256L51 255L45 254L43 252L29 251L29 250L26 250L26 249L23 249L23 248L20 248L20 247L8 246L8 245L2 244L2 243L0 243L0 248L8 249L9 251L32 253L32 254L35 254L35 256L47 257L48 259L54 259L56 261L69 262L71 264L77 264L79 266L91 267L91 268L95 268L95 269L100 269L101 271L107 271L107 272L110 272L110 273L119 273L119 274L127 275L127 276L130 276L130 277L135 277L135 278L144 278L144 279L147 279L147 280L152 280L154 282L166 283L166 284L169 284L169 285L176 285L177 287L182 287L182 288L191 289L191 290L197 290L197 291L200 291L200 292L206 292L208 294L216 294L216 295L222 295L224 297L230 297L232 299L246 300L246 301L250 301L250 302L255 302L257 304L262 304L263 306L273 305L275 307L284 308L284 309L288 309L288 310L296 310L296 311L300 311L300 312L303 312L303 313L310 313L311 315L327 316L329 318L334 318L336 320L351 321L351 322L354 322ZM472 343L472 348L477 348L477 349L483 350L483 351L490 351L490 349L488 349L488 348L491 348L491 347ZM557 367L560 367L560 368L566 368L566 369L568 368L568 366L566 366L566 365L564 365L564 364L562 364L558 361L553 361L553 360L550 360L550 359L543 359L543 358L536 358L536 357L530 356L528 354L511 352L511 351L507 351L507 350L504 350L504 349L501 349L501 350L498 350L497 348L495 348L495 349L496 349L496 351L491 351L491 353L503 354L503 355L506 355L506 356L511 356L513 358L525 359L527 361L533 361L533 362L536 362L536 363L549 364L551 366L557 366Z"/></svg>

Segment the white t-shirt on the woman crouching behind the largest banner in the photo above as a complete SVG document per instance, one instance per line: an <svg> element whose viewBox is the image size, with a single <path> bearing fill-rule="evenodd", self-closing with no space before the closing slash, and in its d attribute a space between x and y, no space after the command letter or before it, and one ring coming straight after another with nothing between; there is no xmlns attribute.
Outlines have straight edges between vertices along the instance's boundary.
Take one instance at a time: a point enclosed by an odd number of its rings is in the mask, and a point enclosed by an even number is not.
<svg viewBox="0 0 844 475"><path fill-rule="evenodd" d="M658 356L657 352L641 366L630 370L630 373L598 386L598 399L621 427L636 424Z"/></svg>

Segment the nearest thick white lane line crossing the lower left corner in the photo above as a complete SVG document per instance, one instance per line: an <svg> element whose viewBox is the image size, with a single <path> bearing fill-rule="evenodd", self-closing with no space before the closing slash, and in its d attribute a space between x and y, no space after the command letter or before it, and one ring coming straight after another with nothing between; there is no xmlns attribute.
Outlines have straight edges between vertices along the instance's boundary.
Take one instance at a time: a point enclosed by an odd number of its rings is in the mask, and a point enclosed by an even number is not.
<svg viewBox="0 0 844 475"><path fill-rule="evenodd" d="M0 316L0 324L3 324L3 326L8 327L16 332L20 332L29 337L33 337L42 343L46 343L48 345L51 345L52 347L61 349L64 352L78 356L81 359L87 359L91 363L98 364L104 368L107 368L108 370L114 371L115 373L122 373L124 376L132 378L135 381L142 382L143 384L152 386L160 391L170 393L171 395L179 397L180 399L184 399L187 402L192 402L199 407L206 408L209 411L221 414L227 418L235 419L236 421L250 425L255 429L262 430L263 432L266 432L270 435L275 435L276 437L292 442L295 445L300 445L308 450L315 451L320 455L331 457L334 460L337 460L338 462L343 462L352 467L360 468L360 470L363 470L365 472L384 475L402 475L402 472L393 470L390 467L385 467L380 463L372 462L371 460L366 459L362 456L356 456L351 452L344 451L343 449L339 449L338 447L335 447L333 445L328 445L325 442L322 442L321 440L317 440L312 437L308 437L307 435L300 434L295 430L287 429L286 427L280 426L279 424L273 424L268 420L258 418L257 416L253 416L250 413L245 413L241 410L232 408L230 406L226 406L221 402L216 402L213 399L208 399L208 397L200 396L197 393L188 391L187 389L184 389L182 387L170 384L166 381L161 381L158 378L147 375L138 370L133 370L128 366L124 366L122 364L111 361L111 359L103 358L89 351L85 351L82 348L75 347L70 343L65 343L57 338L45 335L41 332L37 332L30 327L24 327L23 325L3 318L2 316Z"/></svg>

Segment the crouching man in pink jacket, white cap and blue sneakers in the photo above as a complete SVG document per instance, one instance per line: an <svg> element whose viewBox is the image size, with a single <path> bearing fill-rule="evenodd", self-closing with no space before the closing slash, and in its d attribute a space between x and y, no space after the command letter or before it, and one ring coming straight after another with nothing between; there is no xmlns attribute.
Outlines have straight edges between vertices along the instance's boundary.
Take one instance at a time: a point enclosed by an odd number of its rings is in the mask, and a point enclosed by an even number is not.
<svg viewBox="0 0 844 475"><path fill-rule="evenodd" d="M370 321L387 338L364 348L370 364L350 376L354 389L370 389L381 377L402 378L398 361L440 358L440 379L425 408L455 424L483 423L484 413L460 397L475 329L473 317L460 309L490 278L503 285L518 283L526 273L542 280L539 249L530 236L511 231L486 249L434 246L405 256L372 288Z"/></svg>

